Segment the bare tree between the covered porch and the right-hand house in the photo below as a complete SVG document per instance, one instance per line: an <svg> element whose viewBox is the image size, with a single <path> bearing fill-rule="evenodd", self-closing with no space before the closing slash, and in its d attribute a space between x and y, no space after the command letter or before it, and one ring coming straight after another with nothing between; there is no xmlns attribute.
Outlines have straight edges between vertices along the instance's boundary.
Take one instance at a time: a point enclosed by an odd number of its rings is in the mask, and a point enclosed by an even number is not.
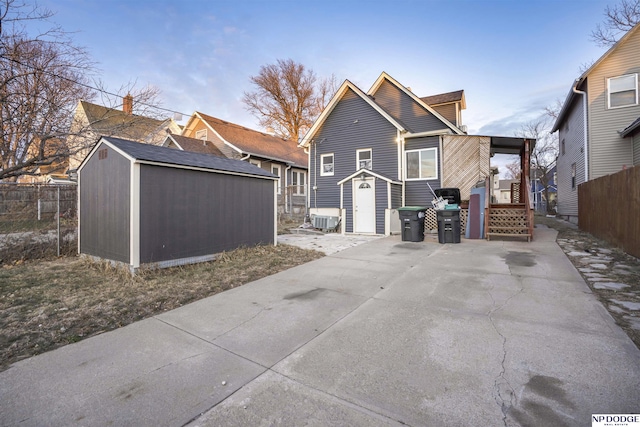
<svg viewBox="0 0 640 427"><path fill-rule="evenodd" d="M531 153L531 180L538 181L542 187L542 197L547 202L547 212L551 213L551 203L549 203L549 189L553 176L551 170L558 159L558 137L557 133L551 134L552 118L557 116L557 105L547 107L545 114L540 118L532 120L522 125L516 132L516 136L522 138L534 138L536 145Z"/></svg>

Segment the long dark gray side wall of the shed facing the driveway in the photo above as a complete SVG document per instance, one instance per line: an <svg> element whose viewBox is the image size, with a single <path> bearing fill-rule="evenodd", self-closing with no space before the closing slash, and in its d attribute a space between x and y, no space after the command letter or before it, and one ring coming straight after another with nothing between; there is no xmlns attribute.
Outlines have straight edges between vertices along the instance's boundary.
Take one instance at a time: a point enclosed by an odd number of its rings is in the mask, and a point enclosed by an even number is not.
<svg viewBox="0 0 640 427"><path fill-rule="evenodd" d="M273 181L141 165L140 262L273 244Z"/></svg>

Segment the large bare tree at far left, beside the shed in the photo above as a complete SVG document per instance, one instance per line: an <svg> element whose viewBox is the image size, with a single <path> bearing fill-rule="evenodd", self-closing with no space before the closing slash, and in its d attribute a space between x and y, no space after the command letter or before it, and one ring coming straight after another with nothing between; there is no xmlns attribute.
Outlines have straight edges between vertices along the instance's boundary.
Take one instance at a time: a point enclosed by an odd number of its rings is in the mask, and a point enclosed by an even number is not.
<svg viewBox="0 0 640 427"><path fill-rule="evenodd" d="M0 4L0 180L14 180L55 169L69 155L64 137L78 99L93 97L93 64L60 28L27 35L24 22L47 20L50 11Z"/></svg>

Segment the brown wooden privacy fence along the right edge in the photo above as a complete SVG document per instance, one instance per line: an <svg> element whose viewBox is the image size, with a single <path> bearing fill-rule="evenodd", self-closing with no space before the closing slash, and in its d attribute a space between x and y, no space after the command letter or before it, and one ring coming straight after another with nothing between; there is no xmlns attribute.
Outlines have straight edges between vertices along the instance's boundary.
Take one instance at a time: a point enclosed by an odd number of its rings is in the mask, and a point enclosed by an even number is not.
<svg viewBox="0 0 640 427"><path fill-rule="evenodd" d="M580 184L578 226L640 258L640 166Z"/></svg>

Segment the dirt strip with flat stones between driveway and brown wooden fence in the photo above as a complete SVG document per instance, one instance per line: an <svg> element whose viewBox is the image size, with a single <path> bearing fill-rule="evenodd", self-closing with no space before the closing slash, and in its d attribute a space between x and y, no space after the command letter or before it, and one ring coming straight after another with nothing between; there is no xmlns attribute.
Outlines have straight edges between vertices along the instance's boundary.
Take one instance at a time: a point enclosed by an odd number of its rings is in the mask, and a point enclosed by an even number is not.
<svg viewBox="0 0 640 427"><path fill-rule="evenodd" d="M640 259L565 221L537 216L536 224L558 230L567 258L640 349Z"/></svg>

